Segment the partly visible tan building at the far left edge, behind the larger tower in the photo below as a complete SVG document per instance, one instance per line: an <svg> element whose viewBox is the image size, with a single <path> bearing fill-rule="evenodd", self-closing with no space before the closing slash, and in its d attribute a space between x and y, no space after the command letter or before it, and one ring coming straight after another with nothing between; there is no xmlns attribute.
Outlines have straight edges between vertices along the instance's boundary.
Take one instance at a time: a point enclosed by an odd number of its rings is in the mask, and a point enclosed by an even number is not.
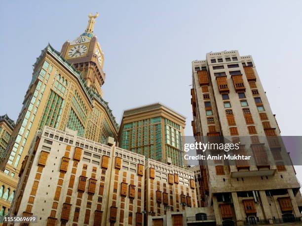
<svg viewBox="0 0 302 226"><path fill-rule="evenodd" d="M7 115L0 116L0 159L2 159L10 136L15 127L15 122Z"/></svg>

